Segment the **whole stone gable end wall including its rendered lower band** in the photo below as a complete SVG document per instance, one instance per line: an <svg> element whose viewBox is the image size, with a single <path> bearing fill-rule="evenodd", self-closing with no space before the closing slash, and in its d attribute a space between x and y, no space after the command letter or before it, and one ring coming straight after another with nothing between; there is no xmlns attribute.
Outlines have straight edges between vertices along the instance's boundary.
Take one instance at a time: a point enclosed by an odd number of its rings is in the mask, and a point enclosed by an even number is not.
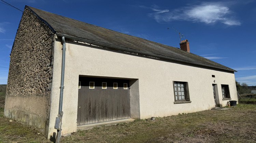
<svg viewBox="0 0 256 143"><path fill-rule="evenodd" d="M11 51L4 115L46 135L54 33L27 8Z"/></svg>

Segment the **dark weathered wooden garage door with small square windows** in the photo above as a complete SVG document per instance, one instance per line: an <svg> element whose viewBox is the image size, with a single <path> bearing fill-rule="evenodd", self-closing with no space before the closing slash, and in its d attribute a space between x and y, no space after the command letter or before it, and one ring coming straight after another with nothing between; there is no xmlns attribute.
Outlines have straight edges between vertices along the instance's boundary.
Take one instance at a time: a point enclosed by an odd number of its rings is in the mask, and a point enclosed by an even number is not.
<svg viewBox="0 0 256 143"><path fill-rule="evenodd" d="M130 118L129 80L79 77L77 125Z"/></svg>

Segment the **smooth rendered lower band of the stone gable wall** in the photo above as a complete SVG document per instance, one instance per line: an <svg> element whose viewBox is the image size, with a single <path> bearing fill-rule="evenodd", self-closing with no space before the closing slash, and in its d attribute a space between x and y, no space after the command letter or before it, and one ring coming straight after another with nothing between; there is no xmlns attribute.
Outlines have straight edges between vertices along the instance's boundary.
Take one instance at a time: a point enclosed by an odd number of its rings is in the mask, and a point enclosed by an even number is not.
<svg viewBox="0 0 256 143"><path fill-rule="evenodd" d="M4 116L47 135L47 96L6 96Z"/></svg>

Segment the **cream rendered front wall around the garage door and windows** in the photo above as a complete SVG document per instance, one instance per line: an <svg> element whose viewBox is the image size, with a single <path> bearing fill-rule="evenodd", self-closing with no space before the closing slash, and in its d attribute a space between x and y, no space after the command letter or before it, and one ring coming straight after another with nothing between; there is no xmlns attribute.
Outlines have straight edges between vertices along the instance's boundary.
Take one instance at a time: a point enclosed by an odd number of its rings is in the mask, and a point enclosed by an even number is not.
<svg viewBox="0 0 256 143"><path fill-rule="evenodd" d="M59 41L60 39L56 38L48 138L56 132L54 124L58 115L62 54ZM76 131L79 75L139 79L140 118L163 117L214 108L212 84L218 86L216 90L219 94L216 96L219 97L221 106L226 106L227 102L222 100L221 84L229 85L231 99L237 100L233 73L113 52L66 39L63 134ZM215 75L215 78L212 75ZM188 82L191 103L174 104L173 81Z"/></svg>

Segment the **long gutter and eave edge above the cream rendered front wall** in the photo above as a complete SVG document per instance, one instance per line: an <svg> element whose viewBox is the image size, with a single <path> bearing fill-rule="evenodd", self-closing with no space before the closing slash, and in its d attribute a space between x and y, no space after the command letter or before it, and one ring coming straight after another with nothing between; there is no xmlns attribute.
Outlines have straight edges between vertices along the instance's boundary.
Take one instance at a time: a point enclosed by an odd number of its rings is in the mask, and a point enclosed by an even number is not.
<svg viewBox="0 0 256 143"><path fill-rule="evenodd" d="M204 66L204 67L222 69L222 70L226 70L226 71L229 71L229 72L237 72L234 69L231 70L231 69L226 69L226 68L221 68L221 67L216 67L216 66L211 66L211 65L200 64L200 63L196 63L196 62L190 62L190 61L186 61L186 60L167 57L167 56L164 56L164 55L143 52L143 51L139 51L139 50L134 50L134 49L129 49L129 48L125 48L125 47L115 46L115 45L106 44L106 43L97 42L97 41L92 41L92 40L89 40L89 39L84 39L84 38L79 38L79 37L73 37L73 36L69 36L69 35L65 35L65 34L61 34L61 33L56 33L56 34L57 34L57 36L61 36L61 37L65 36L66 38L69 38L69 39L75 39L77 41L87 42L87 43L94 44L94 45L97 45L97 46L111 47L111 48L122 50L122 51L125 51L125 52L138 53L138 54L141 54L141 55L146 55L146 56L149 56L149 57L155 57L155 58L159 58L159 59L167 59L167 60L172 60L172 61L177 61L177 62L182 62L182 63L189 63L189 64L193 64L193 65L200 65L200 66Z"/></svg>

